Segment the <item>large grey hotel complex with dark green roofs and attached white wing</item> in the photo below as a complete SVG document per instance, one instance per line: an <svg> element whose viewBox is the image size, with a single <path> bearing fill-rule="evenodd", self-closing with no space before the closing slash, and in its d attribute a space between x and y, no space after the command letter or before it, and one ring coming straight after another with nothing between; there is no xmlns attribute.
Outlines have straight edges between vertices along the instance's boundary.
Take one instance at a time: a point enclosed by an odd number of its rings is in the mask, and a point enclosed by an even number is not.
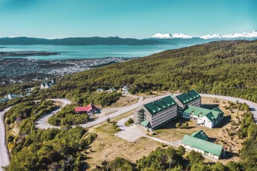
<svg viewBox="0 0 257 171"><path fill-rule="evenodd" d="M196 120L197 125L213 128L224 119L224 113L218 107L206 109L200 106L200 95L195 90L190 90L138 107L134 112L134 123L157 128L171 119L180 117Z"/></svg>

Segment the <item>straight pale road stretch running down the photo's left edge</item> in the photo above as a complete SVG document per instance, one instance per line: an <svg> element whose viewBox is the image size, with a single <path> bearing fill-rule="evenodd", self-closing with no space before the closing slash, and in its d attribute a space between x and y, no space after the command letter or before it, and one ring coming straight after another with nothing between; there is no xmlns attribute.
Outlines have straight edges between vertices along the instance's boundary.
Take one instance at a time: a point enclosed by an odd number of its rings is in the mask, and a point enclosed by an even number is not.
<svg viewBox="0 0 257 171"><path fill-rule="evenodd" d="M5 138L5 124L4 124L4 115L11 107L6 108L4 111L0 111L0 170L2 166L9 165L9 155L8 148L6 145Z"/></svg>

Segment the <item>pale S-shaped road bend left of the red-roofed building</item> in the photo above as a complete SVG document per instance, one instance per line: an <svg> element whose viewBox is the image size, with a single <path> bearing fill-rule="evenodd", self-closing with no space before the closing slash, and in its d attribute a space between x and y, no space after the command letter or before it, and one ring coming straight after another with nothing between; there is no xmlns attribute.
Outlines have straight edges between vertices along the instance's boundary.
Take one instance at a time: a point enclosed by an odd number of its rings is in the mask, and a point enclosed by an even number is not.
<svg viewBox="0 0 257 171"><path fill-rule="evenodd" d="M47 128L59 128L59 126L54 126L54 125L50 125L47 120L54 114L57 113L58 111L61 110L62 107L64 107L67 104L70 104L70 100L68 99L47 99L47 100L52 100L54 102L61 102L61 107L53 110L49 113L46 113L44 116L40 117L36 122L35 122L35 126L41 129L47 129Z"/></svg>

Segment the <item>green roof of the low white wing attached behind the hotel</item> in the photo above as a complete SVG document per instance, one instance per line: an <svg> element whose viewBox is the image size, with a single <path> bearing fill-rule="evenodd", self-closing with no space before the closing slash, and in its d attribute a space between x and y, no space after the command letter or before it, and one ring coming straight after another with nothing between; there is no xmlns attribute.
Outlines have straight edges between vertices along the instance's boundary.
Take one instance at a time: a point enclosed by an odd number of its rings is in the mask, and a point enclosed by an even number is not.
<svg viewBox="0 0 257 171"><path fill-rule="evenodd" d="M206 109L202 107L196 107L191 105L186 105L183 112L185 113L191 113L194 112L194 116L199 116L199 118L202 118L206 116L211 122L214 122L215 119L217 119L219 113L223 113L221 109L216 107L215 109Z"/></svg>

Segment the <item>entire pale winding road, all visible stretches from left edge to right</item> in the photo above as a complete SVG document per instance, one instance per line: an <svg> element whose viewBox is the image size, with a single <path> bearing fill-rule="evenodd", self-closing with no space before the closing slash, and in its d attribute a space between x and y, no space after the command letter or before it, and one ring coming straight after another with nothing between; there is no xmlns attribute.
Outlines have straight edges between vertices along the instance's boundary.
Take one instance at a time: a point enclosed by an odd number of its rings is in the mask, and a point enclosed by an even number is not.
<svg viewBox="0 0 257 171"><path fill-rule="evenodd" d="M162 95L162 96L158 96L158 97L154 97L154 98L148 98L145 100L139 100L137 103L132 104L130 106L124 106L124 107L120 107L118 108L118 111L115 111L107 116L104 116L102 118L99 118L95 121L92 122L88 122L85 124L80 124L80 126L84 127L84 128L88 128L88 127L92 127L92 126L96 126L100 123L103 123L107 120L107 118L112 119L115 117L118 117L120 115L123 115L124 113L131 111L133 109L136 109L137 107L139 107L140 105L143 105L145 103L149 103L158 99L161 99L163 97L169 96L170 94L166 94L166 95ZM176 95L176 94L174 94ZM251 101L248 100L244 100L244 99L240 99L240 98L233 98L233 97L227 97L227 96L219 96L219 95L213 95L213 94L200 94L201 97L207 97L207 98L217 98L217 99L223 99L223 100L228 100L228 101L233 101L235 102L236 100L238 100L238 102L241 103L246 103L249 105L251 112L252 112L252 116L253 116L253 120L255 123L257 123L257 104L253 103ZM70 104L71 102L68 99L48 99L48 100L53 100L56 102L61 102L62 105L61 107ZM12 107L12 106L11 106ZM4 115L5 112L7 112L11 107L6 108L5 110L0 112L0 170L2 170L1 166L5 166L9 164L9 155L8 155L8 148L7 148L7 144L6 144L6 136L5 136L5 124L4 124ZM53 110L50 113L47 113L46 115L42 116L41 118L39 118L39 120L36 121L35 126L41 129L47 129L47 128L59 128L58 126L53 126L47 123L47 120L49 119L49 117L51 117L54 113L60 111L61 108L57 109L57 110ZM76 126L76 125L74 125Z"/></svg>

